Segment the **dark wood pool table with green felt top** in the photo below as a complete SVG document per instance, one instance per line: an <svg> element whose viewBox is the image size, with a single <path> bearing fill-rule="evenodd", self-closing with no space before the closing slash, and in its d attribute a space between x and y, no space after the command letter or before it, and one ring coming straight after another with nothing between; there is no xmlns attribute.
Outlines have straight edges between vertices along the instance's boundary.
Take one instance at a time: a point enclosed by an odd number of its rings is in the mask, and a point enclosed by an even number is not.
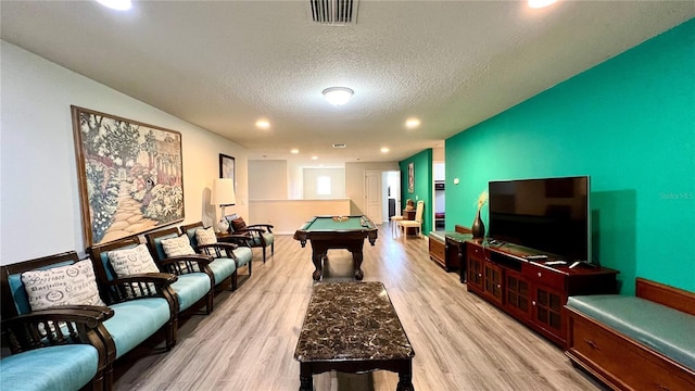
<svg viewBox="0 0 695 391"><path fill-rule="evenodd" d="M318 281L324 274L324 258L330 249L345 249L352 253L355 267L355 279L362 280L362 248L365 238L374 245L377 241L377 226L367 216L315 216L294 232L294 239L306 245L312 242L312 262L314 274Z"/></svg>

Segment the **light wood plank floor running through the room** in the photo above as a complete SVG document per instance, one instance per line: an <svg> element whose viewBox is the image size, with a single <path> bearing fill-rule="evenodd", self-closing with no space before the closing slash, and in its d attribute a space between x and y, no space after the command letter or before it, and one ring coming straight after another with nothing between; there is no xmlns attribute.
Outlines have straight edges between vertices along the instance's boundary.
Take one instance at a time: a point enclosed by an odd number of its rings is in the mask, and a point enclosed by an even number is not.
<svg viewBox="0 0 695 391"><path fill-rule="evenodd" d="M416 390L603 390L559 348L468 293L457 273L429 260L426 239L393 239L384 225L364 254L365 280L384 283L415 349ZM329 258L327 279L350 275L350 253L331 250ZM275 255L263 264L254 250L254 260L253 276L218 293L213 314L179 320L172 351L154 339L122 357L116 390L298 390L293 353L312 293L311 244L276 236ZM366 379L393 391L397 375ZM336 374L314 382L317 391L355 388Z"/></svg>

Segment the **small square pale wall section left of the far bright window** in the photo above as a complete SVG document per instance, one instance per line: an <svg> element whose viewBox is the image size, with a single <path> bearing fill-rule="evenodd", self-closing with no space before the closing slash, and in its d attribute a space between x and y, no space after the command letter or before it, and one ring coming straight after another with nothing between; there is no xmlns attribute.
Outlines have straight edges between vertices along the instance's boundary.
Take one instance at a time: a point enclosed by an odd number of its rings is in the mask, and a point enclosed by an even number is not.
<svg viewBox="0 0 695 391"><path fill-rule="evenodd" d="M287 200L287 161L249 161L249 177L251 200Z"/></svg>

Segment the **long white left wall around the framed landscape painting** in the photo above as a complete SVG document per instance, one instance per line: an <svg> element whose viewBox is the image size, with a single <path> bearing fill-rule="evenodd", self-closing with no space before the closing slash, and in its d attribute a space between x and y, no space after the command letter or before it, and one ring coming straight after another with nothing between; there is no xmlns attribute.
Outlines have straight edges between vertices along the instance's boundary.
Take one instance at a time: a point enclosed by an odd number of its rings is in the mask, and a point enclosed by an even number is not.
<svg viewBox="0 0 695 391"><path fill-rule="evenodd" d="M71 105L181 133L184 223L216 220L210 189L219 153L236 159L239 204L248 214L244 148L104 85L0 41L0 264L74 250L84 254Z"/></svg>

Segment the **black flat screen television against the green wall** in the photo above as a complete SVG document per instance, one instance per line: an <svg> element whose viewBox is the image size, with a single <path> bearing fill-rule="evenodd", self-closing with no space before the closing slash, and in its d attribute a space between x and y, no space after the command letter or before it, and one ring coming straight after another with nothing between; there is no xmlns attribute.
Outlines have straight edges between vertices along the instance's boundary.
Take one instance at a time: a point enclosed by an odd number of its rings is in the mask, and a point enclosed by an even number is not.
<svg viewBox="0 0 695 391"><path fill-rule="evenodd" d="M492 239L591 262L587 176L490 181L489 194Z"/></svg>

